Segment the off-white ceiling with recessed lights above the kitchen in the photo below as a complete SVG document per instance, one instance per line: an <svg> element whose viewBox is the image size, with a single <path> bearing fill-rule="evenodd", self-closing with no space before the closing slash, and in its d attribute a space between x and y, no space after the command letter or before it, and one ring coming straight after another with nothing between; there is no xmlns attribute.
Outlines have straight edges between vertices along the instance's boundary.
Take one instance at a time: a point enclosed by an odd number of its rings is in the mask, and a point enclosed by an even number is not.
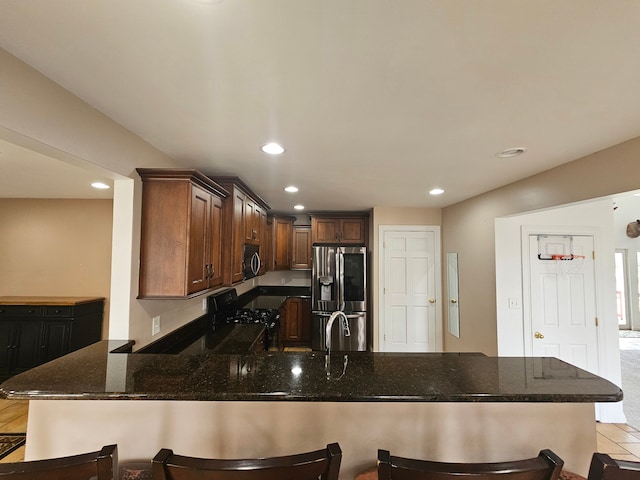
<svg viewBox="0 0 640 480"><path fill-rule="evenodd" d="M2 0L0 47L274 210L442 207L639 136L639 21L634 0Z"/></svg>

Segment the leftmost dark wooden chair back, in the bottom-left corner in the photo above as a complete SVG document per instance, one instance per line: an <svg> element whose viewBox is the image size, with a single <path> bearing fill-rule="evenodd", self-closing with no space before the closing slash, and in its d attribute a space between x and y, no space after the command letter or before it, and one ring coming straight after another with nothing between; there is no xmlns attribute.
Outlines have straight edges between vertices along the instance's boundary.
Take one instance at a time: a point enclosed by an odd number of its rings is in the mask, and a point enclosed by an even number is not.
<svg viewBox="0 0 640 480"><path fill-rule="evenodd" d="M100 451L70 457L0 463L2 480L114 480L118 478L118 448L107 445Z"/></svg>

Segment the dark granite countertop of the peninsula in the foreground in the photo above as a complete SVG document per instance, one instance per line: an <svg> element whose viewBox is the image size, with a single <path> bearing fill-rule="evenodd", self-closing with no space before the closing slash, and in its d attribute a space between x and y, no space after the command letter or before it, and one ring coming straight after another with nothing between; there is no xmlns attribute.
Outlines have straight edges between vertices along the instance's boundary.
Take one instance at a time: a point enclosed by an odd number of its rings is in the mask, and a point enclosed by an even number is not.
<svg viewBox="0 0 640 480"><path fill-rule="evenodd" d="M318 352L110 353L126 346L127 342L98 342L8 379L0 385L0 393L14 399L97 400L615 402L622 399L622 391L611 382L546 357L352 352L332 354L327 359Z"/></svg>

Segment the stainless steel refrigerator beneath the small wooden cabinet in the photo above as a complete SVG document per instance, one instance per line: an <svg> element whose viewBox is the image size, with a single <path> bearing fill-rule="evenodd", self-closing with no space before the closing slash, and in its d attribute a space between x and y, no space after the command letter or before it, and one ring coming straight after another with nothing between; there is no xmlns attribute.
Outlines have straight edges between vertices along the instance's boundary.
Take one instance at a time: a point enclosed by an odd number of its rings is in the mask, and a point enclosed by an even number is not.
<svg viewBox="0 0 640 480"><path fill-rule="evenodd" d="M311 269L311 347L325 349L327 320L336 310L347 315L351 335L335 321L332 351L367 350L367 249L316 245Z"/></svg>

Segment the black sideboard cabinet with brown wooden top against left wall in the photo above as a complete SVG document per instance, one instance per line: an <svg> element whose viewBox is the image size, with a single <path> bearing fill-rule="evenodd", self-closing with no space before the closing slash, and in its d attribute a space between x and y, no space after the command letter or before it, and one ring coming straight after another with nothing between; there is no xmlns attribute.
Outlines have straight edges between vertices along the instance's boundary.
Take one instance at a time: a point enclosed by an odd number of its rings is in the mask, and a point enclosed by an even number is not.
<svg viewBox="0 0 640 480"><path fill-rule="evenodd" d="M102 337L104 298L0 297L0 380Z"/></svg>

